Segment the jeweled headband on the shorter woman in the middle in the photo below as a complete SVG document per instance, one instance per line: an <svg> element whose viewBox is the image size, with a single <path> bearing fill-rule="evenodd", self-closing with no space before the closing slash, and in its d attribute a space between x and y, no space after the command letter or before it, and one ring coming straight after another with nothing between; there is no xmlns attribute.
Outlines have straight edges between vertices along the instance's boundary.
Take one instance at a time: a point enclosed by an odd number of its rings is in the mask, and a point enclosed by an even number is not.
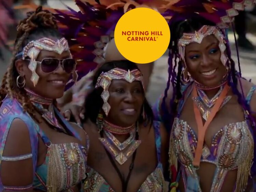
<svg viewBox="0 0 256 192"><path fill-rule="evenodd" d="M110 105L108 103L109 99L109 86L111 84L111 80L118 80L118 79L124 79L129 83L132 83L133 81L140 81L143 86L143 76L142 73L138 69L134 69L132 71L123 70L120 68L112 69L108 72L102 72L100 76L97 79L96 88L102 87L103 92L101 93L101 98L104 101L104 104L102 106L102 109L104 110L106 116L109 114Z"/></svg>

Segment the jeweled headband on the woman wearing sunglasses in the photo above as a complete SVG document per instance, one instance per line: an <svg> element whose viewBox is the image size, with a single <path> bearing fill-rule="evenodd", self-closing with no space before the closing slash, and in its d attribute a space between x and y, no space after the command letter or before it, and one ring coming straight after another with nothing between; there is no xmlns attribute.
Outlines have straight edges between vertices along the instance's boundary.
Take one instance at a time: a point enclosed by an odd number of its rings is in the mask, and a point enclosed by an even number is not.
<svg viewBox="0 0 256 192"><path fill-rule="evenodd" d="M41 50L54 51L58 54L62 54L63 51L69 51L68 41L65 38L54 41L49 38L42 38L36 41L29 42L24 48L23 51L18 53L17 56L22 56L22 59L25 60L26 57L30 58L30 63L28 68L32 71L31 81L34 86L37 85L39 76L35 72L37 69L37 57ZM70 57L71 54L70 54Z"/></svg>

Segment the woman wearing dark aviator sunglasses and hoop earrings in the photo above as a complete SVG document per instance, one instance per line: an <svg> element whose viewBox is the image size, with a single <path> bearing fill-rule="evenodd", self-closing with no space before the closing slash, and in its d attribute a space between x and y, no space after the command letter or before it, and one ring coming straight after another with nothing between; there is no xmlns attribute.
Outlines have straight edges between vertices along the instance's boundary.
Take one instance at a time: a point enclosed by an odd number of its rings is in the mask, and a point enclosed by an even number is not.
<svg viewBox="0 0 256 192"><path fill-rule="evenodd" d="M75 60L56 20L39 7L17 27L0 89L0 191L73 191L85 179L87 135L60 115Z"/></svg>

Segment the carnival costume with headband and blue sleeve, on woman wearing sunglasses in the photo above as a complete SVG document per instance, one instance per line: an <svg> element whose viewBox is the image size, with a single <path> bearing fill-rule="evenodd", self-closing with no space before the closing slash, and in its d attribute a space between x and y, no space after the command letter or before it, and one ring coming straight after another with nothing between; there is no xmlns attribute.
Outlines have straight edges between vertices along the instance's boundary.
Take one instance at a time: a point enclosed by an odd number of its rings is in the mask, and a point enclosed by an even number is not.
<svg viewBox="0 0 256 192"><path fill-rule="evenodd" d="M39 79L35 69L38 65L36 59L41 50L55 51L61 54L63 51L68 51L69 47L67 40L64 38L57 41L42 38L31 41L24 47L21 53L17 54L17 57L21 56L22 59L30 58L28 67L32 72L31 80L34 86L37 85ZM55 130L81 140L80 135L54 106L53 100L43 98L31 90L24 88L25 79L23 82L20 82L19 78L20 76L17 77L17 86L27 92L30 101L42 118ZM48 106L48 109L43 108L43 105ZM21 119L27 126L30 136L31 153L17 157L4 157L3 151L6 138L14 119ZM60 127L58 120L62 122L63 128ZM5 99L2 100L0 107L0 130L0 164L2 161L20 161L25 159L32 159L33 163L33 182L29 186L3 186L0 180L0 191L18 191L33 188L35 190L48 192L71 192L72 187L81 184L82 180L85 179L88 145L84 147L77 143L52 144L46 134L40 129L35 119L27 112L24 112L22 104L9 95L6 95ZM47 153L44 163L37 166L39 137L47 146Z"/></svg>

